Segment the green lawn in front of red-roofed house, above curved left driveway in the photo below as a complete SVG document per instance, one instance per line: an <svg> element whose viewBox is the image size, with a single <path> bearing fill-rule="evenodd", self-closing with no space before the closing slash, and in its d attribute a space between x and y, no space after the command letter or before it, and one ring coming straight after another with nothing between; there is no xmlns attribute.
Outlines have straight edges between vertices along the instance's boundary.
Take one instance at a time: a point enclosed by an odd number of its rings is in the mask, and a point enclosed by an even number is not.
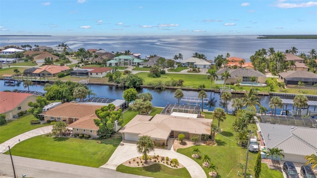
<svg viewBox="0 0 317 178"><path fill-rule="evenodd" d="M31 125L31 120L37 119L32 114L28 114L21 116L14 121L7 121L4 125L0 126L0 143L33 129L49 126L48 124Z"/></svg>

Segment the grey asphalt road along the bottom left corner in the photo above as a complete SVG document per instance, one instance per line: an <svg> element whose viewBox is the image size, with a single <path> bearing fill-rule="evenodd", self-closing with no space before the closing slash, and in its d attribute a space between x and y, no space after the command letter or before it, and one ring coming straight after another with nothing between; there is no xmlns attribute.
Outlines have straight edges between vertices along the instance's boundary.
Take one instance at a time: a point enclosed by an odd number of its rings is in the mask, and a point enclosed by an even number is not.
<svg viewBox="0 0 317 178"><path fill-rule="evenodd" d="M12 156L12 158L17 178L21 178L24 174L28 178L146 178L105 168L91 168L18 156ZM13 177L9 155L0 154L0 175Z"/></svg>

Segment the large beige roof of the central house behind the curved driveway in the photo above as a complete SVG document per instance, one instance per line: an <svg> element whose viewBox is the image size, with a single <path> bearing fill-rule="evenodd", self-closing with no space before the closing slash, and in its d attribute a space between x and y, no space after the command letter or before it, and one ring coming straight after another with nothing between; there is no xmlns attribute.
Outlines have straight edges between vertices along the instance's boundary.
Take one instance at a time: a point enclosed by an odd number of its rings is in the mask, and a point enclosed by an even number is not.
<svg viewBox="0 0 317 178"><path fill-rule="evenodd" d="M120 133L149 135L152 138L167 139L171 131L190 134L210 134L211 119L186 118L157 114L152 116L137 115Z"/></svg>

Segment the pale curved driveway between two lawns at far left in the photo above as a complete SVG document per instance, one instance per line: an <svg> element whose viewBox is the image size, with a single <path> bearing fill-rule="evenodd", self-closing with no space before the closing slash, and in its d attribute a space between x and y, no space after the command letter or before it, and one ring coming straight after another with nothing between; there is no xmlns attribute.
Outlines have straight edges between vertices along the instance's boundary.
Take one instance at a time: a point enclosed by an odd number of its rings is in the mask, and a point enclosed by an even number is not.
<svg viewBox="0 0 317 178"><path fill-rule="evenodd" d="M4 153L9 150L8 146L12 148L15 144L17 144L20 141L29 139L34 136L42 135L42 134L48 134L52 132L53 126L45 126L41 128L34 129L32 131L28 131L23 134L19 134L9 140L6 140L5 142L0 144L0 153Z"/></svg>

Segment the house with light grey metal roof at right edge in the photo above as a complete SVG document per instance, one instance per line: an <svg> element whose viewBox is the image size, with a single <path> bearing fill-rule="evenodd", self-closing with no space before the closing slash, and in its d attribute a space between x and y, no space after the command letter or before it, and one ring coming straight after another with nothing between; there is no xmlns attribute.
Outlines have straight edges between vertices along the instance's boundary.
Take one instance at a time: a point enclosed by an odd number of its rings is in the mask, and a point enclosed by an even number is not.
<svg viewBox="0 0 317 178"><path fill-rule="evenodd" d="M282 161L306 163L304 157L317 152L317 129L259 123L266 148L279 148Z"/></svg>

